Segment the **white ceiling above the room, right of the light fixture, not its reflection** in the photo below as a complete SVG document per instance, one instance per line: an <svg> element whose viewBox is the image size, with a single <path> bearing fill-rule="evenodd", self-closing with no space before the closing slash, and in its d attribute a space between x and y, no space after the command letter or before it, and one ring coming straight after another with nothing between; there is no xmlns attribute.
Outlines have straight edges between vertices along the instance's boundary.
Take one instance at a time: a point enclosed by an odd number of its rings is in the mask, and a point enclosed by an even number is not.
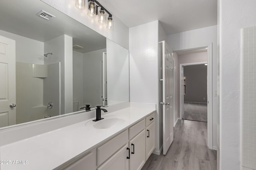
<svg viewBox="0 0 256 170"><path fill-rule="evenodd" d="M99 2L128 27L159 20L167 35L217 25L217 0L99 0Z"/></svg>

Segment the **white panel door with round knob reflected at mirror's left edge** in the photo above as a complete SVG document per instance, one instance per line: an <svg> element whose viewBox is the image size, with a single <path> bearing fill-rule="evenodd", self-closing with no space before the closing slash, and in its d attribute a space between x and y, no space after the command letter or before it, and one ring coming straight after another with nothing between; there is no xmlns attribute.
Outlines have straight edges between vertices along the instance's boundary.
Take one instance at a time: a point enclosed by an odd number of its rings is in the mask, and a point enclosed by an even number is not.
<svg viewBox="0 0 256 170"><path fill-rule="evenodd" d="M15 53L15 41L0 36L0 127L16 124Z"/></svg>

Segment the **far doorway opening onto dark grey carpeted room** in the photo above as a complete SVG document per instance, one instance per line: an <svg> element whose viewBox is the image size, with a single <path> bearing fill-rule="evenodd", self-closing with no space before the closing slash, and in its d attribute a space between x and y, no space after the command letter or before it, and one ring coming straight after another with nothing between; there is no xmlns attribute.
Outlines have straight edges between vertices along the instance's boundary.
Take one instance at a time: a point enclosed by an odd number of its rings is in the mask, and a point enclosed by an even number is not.
<svg viewBox="0 0 256 170"><path fill-rule="evenodd" d="M207 122L207 62L182 65L181 79L182 119Z"/></svg>

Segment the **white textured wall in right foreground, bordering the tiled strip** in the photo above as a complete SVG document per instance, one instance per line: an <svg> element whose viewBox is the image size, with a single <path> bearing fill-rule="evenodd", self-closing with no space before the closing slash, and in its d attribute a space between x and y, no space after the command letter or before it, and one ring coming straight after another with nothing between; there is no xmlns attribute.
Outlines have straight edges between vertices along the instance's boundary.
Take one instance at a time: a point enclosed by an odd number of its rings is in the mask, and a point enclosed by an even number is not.
<svg viewBox="0 0 256 170"><path fill-rule="evenodd" d="M240 169L241 28L256 25L255 0L220 0L220 170Z"/></svg>

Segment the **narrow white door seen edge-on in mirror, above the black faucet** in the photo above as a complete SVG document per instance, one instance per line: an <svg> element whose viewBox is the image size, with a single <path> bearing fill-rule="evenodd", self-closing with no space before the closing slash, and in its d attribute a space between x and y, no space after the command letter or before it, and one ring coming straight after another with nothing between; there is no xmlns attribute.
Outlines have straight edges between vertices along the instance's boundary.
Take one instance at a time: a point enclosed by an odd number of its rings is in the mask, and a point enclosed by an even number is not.
<svg viewBox="0 0 256 170"><path fill-rule="evenodd" d="M102 105L108 106L107 98L107 53L103 53L102 60Z"/></svg>

